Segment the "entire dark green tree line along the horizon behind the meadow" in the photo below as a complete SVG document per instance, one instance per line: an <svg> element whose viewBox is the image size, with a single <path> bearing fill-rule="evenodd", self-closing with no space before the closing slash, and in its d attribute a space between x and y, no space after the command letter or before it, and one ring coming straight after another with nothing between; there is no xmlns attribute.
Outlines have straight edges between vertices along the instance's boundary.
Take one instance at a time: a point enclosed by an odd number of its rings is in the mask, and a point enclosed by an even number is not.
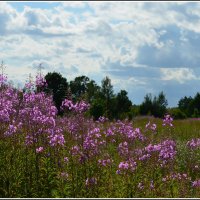
<svg viewBox="0 0 200 200"><path fill-rule="evenodd" d="M126 90L114 93L111 79L108 76L101 81L101 86L87 76L78 76L68 82L58 72L47 73L45 79L47 86L37 89L53 95L59 115L63 114L60 109L62 101L68 98L74 102L85 100L90 103L87 114L93 116L94 119L98 119L100 116L109 119L132 119L141 115L163 117L166 113L177 119L200 116L199 93L194 98L181 98L178 107L167 108L168 101L163 92L160 92L158 96L146 94L140 105L133 104L128 98Z"/></svg>

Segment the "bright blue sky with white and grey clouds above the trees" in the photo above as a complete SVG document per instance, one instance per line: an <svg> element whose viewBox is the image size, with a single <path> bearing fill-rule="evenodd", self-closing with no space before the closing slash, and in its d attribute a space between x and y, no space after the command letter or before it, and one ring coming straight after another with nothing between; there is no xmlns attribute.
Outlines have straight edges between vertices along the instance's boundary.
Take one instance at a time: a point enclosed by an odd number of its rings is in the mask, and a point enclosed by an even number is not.
<svg viewBox="0 0 200 200"><path fill-rule="evenodd" d="M133 104L200 92L200 2L0 2L0 61L15 84L37 73L108 76Z"/></svg>

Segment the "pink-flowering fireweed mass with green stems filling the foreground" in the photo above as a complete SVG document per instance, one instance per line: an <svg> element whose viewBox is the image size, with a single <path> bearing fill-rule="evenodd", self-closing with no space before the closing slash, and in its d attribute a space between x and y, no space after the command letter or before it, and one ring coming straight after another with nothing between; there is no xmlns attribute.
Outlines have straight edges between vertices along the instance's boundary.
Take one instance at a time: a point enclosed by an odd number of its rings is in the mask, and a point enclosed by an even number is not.
<svg viewBox="0 0 200 200"><path fill-rule="evenodd" d="M0 75L0 197L199 197L200 138L177 137L170 115L95 121L65 99L58 117L46 85Z"/></svg>

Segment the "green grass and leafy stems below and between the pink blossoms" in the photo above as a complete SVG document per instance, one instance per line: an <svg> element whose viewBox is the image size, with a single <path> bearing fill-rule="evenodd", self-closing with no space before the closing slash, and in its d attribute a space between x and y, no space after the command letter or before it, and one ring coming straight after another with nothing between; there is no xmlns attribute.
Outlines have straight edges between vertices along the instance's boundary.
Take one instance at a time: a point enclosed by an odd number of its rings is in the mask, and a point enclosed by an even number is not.
<svg viewBox="0 0 200 200"><path fill-rule="evenodd" d="M116 170L121 161L125 159L117 153L118 144L123 141L119 138L116 143L108 143L102 147L101 153L83 163L79 162L79 156L72 156L69 149L76 145L76 141L65 133L66 145L64 148L47 147L45 152L36 154L34 148L25 148L19 138L2 138L0 140L0 197L24 197L24 198L50 198L50 197L95 197L95 198L131 198L131 197L199 197L199 188L192 188L191 181L200 179L200 151L188 150L186 142L200 136L200 121L198 120L175 120L174 127L169 129L162 126L161 119L138 118L133 120L133 126L144 130L148 121L157 124L156 134L145 133L153 144L164 139L174 139L177 144L176 159L165 168L157 166L157 155L149 161L138 162L137 169L127 174L118 175ZM107 124L109 126L109 123ZM106 128L106 127L104 127ZM18 142L16 142L18 141ZM132 150L144 147L142 142L130 145ZM47 156L47 153L51 156ZM113 164L107 167L99 167L98 159L109 155ZM67 156L69 163L65 164L63 158ZM59 175L68 173L68 178ZM186 173L190 180L162 179L173 173ZM88 177L96 177L97 184L86 186ZM154 181L154 189L150 188ZM140 190L138 184L144 185Z"/></svg>

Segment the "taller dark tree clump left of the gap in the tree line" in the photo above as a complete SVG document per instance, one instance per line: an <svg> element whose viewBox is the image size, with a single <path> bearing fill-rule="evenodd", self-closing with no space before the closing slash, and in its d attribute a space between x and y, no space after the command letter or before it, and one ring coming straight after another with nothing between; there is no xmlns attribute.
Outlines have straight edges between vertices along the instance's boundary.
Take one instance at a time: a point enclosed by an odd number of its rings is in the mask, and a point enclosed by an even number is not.
<svg viewBox="0 0 200 200"><path fill-rule="evenodd" d="M57 72L49 72L45 79L47 87L43 90L53 95L60 115L62 115L60 106L65 98L74 102L85 100L90 103L88 114L94 119L98 119L100 116L109 119L122 119L130 115L132 102L127 96L127 91L121 90L115 94L109 77L102 80L101 86L87 76L78 76L67 82L67 79Z"/></svg>

